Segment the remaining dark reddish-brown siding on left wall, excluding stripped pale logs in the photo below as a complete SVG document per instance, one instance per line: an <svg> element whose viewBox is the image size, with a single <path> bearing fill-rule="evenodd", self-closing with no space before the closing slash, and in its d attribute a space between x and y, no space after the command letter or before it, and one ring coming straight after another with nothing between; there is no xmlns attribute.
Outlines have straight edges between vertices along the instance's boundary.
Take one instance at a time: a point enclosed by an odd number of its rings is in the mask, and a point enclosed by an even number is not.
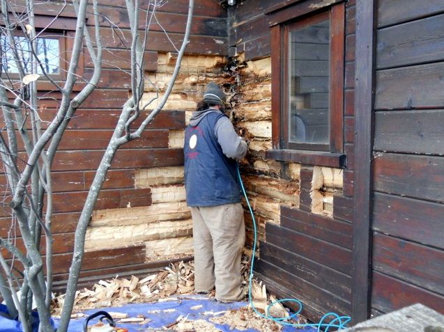
<svg viewBox="0 0 444 332"><path fill-rule="evenodd" d="M17 0L18 5L20 1ZM24 2L24 1L23 1ZM89 1L92 3L92 1ZM148 1L141 0L142 8L146 8ZM169 37L176 44L183 38L185 22L187 19L188 0L165 1L162 8L156 12L159 22ZM192 22L190 44L187 54L218 54L227 55L227 10L217 0L195 0L194 17ZM52 15L59 14L63 1L45 1L36 3L36 15L43 17L39 24L49 22ZM93 181L95 170L105 152L105 148L112 135L112 130L120 116L123 103L130 95L130 24L125 8L125 0L100 1L100 26L102 45L106 47L102 54L102 73L98 88L80 106L68 125L59 151L56 152L52 165L52 180L54 191L54 215L52 218L52 232L54 234L54 278L56 287L63 288L72 256L74 232L79 219L79 211ZM141 29L143 28L145 11L141 10ZM105 16L118 26L112 29ZM63 33L66 29L75 29L75 11L68 4L51 26L54 31ZM89 8L87 24L93 33L93 14ZM70 39L68 38L68 41ZM84 45L85 47L85 45ZM148 50L145 52L145 70L155 72L158 69L158 52L175 52L162 28L155 24L148 34ZM93 63L87 55L86 47L80 63L80 70L85 79L93 74ZM59 82L63 84L63 82ZM79 79L75 91L86 84ZM46 99L40 100L43 106L40 112L47 126L56 114L56 108L61 97L60 93L53 91L50 84L45 81L38 82L41 94ZM48 92L52 91L52 92ZM141 114L146 118L148 112ZM134 126L140 124L137 120ZM3 117L0 118L3 127ZM123 145L116 153L112 169L107 174L103 190L100 193L96 210L151 205L151 191L149 189L135 189L135 170L153 166L181 166L183 165L183 150L169 149L169 130L184 129L185 112L183 110L164 110L148 125L141 139ZM5 189L4 175L0 175L0 189ZM10 229L8 214L3 207L0 209L0 237L8 237L8 232L19 232ZM17 243L20 246L21 238ZM44 242L43 242L44 244ZM6 257L9 257L6 255ZM163 262L162 264L168 264ZM155 262L145 263L145 247L130 246L128 248L115 248L110 250L89 251L82 265L81 284L91 283L102 276L114 277L125 272L127 275L138 271L146 271L148 267L161 267Z"/></svg>

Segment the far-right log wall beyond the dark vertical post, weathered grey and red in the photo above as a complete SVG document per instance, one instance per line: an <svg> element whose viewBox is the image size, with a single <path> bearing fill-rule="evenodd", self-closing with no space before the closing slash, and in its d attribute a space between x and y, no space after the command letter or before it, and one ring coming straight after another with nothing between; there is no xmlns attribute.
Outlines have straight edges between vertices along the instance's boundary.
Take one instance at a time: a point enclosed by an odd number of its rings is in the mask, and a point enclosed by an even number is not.
<svg viewBox="0 0 444 332"><path fill-rule="evenodd" d="M379 0L372 310L444 313L444 3Z"/></svg>

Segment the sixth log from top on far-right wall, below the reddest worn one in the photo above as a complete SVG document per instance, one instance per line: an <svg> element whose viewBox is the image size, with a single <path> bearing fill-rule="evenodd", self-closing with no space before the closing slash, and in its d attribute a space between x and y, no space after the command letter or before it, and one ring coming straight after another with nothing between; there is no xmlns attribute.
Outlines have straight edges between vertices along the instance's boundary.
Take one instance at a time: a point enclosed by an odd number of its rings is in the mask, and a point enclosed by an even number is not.
<svg viewBox="0 0 444 332"><path fill-rule="evenodd" d="M374 194L373 229L444 249L444 205L401 196Z"/></svg>

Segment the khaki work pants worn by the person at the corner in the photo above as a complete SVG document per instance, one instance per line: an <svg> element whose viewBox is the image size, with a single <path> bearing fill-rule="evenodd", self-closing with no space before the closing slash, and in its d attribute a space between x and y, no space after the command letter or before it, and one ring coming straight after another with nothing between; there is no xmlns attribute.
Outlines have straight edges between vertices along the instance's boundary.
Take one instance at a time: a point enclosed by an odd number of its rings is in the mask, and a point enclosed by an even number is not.
<svg viewBox="0 0 444 332"><path fill-rule="evenodd" d="M219 301L243 298L240 259L245 224L240 203L191 207L194 239L194 290L216 288Z"/></svg>

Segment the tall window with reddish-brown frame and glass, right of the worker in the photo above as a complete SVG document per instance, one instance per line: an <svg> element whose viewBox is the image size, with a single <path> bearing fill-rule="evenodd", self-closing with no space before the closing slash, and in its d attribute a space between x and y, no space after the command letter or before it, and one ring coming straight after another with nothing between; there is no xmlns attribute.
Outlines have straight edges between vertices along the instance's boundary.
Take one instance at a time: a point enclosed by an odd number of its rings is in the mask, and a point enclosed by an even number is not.
<svg viewBox="0 0 444 332"><path fill-rule="evenodd" d="M272 26L271 49L273 148L342 152L344 3Z"/></svg>

